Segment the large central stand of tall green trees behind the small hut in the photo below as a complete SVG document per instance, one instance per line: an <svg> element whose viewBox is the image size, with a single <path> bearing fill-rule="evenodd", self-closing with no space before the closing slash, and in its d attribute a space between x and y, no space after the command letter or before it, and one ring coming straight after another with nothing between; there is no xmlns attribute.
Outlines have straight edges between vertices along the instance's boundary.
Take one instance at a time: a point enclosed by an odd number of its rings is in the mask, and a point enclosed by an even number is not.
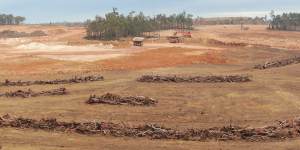
<svg viewBox="0 0 300 150"><path fill-rule="evenodd" d="M182 12L179 14L159 14L154 17L145 16L142 12L120 14L117 9L107 13L105 17L96 16L95 20L87 21L87 38L114 40L121 37L140 36L145 32L166 29L192 29L192 15Z"/></svg>

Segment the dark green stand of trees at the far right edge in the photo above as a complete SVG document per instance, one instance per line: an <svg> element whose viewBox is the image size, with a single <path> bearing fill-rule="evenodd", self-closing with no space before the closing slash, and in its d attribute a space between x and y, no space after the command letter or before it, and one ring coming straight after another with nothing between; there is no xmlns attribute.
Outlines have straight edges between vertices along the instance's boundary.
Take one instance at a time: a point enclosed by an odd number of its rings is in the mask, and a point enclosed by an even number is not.
<svg viewBox="0 0 300 150"><path fill-rule="evenodd" d="M271 12L270 29L300 31L300 13L283 13L275 15Z"/></svg>

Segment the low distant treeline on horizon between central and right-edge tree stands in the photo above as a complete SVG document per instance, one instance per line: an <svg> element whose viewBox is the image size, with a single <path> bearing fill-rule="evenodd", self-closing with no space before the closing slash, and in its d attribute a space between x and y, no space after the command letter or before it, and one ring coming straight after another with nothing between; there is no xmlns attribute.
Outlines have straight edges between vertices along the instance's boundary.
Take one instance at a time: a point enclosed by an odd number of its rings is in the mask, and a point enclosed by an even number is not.
<svg viewBox="0 0 300 150"><path fill-rule="evenodd" d="M196 18L195 25L237 25L237 24L266 24L266 17L219 17Z"/></svg>

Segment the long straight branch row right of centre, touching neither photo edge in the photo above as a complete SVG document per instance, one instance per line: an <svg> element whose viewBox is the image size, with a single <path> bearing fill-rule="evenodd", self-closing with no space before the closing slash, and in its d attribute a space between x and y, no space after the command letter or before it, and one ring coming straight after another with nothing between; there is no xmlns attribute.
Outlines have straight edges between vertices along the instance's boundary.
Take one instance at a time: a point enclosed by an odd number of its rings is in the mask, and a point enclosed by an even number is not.
<svg viewBox="0 0 300 150"><path fill-rule="evenodd" d="M222 82L250 82L249 76L230 75L230 76L195 76L195 77L179 77L179 76L160 76L160 75L144 75L137 79L139 82L189 82L189 83L222 83Z"/></svg>

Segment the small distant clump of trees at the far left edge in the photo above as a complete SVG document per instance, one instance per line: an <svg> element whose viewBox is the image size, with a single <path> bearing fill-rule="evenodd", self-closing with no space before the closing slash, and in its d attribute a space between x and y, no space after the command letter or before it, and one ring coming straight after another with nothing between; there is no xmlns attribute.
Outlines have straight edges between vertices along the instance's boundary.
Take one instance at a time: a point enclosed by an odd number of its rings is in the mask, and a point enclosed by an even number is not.
<svg viewBox="0 0 300 150"><path fill-rule="evenodd" d="M25 17L12 14L0 14L0 25L18 25L25 21Z"/></svg>

